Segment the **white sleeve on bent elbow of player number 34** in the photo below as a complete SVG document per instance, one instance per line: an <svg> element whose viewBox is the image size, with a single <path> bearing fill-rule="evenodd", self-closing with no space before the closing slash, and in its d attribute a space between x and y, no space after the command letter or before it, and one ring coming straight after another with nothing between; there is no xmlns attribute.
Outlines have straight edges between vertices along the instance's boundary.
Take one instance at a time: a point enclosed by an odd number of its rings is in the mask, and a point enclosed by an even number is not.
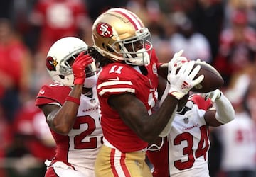
<svg viewBox="0 0 256 177"><path fill-rule="evenodd" d="M235 119L235 110L228 98L226 98L223 93L221 93L220 98L215 100L215 106L215 117L220 123L225 124Z"/></svg>

